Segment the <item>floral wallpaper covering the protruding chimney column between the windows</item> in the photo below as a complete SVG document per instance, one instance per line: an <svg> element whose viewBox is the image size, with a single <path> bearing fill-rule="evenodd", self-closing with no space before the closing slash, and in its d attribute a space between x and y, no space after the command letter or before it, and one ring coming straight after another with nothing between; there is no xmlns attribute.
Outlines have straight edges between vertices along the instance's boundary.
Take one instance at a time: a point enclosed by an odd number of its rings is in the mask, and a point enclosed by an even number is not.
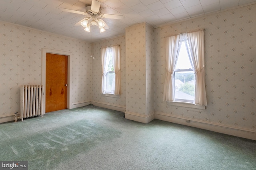
<svg viewBox="0 0 256 170"><path fill-rule="evenodd" d="M153 29L146 23L126 28L126 111L154 112Z"/></svg>

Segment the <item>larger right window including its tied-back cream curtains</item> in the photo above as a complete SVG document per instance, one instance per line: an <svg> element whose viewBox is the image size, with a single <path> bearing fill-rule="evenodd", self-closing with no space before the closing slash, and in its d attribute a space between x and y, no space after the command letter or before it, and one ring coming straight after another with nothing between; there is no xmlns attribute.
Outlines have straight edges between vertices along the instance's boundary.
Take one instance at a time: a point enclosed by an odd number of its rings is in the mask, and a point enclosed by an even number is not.
<svg viewBox="0 0 256 170"><path fill-rule="evenodd" d="M164 101L206 106L204 31L166 37Z"/></svg>

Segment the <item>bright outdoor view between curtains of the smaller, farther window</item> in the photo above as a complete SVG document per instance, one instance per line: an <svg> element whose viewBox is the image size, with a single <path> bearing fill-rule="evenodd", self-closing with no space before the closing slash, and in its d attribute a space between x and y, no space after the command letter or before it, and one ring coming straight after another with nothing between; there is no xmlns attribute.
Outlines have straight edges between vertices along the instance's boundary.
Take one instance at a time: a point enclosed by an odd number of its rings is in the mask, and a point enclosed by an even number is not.
<svg viewBox="0 0 256 170"><path fill-rule="evenodd" d="M109 49L108 49L109 50ZM108 64L108 72L106 74L106 92L107 93L111 93L112 91L112 84L113 81L115 81L115 72L114 72L114 65L113 65L113 59L112 59L112 53L111 50L108 51L109 52L109 64Z"/></svg>

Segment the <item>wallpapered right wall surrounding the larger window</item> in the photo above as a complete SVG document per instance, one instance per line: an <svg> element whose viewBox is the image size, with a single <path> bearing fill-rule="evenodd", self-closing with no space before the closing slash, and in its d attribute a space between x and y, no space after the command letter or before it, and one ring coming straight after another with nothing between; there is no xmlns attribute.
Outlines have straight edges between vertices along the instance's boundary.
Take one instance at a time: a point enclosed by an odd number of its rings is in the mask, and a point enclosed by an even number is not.
<svg viewBox="0 0 256 170"><path fill-rule="evenodd" d="M256 130L256 5L154 29L155 110ZM166 36L205 29L206 110L163 102Z"/></svg>

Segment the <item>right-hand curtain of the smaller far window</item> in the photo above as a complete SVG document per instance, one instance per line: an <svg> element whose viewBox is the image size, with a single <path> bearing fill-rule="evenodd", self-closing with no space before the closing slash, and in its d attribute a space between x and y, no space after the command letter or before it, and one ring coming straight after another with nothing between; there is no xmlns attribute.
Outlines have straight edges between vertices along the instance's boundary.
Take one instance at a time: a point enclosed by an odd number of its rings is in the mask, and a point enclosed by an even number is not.
<svg viewBox="0 0 256 170"><path fill-rule="evenodd" d="M112 84L112 94L120 95L120 46L111 47L113 65L115 70L115 78Z"/></svg>

